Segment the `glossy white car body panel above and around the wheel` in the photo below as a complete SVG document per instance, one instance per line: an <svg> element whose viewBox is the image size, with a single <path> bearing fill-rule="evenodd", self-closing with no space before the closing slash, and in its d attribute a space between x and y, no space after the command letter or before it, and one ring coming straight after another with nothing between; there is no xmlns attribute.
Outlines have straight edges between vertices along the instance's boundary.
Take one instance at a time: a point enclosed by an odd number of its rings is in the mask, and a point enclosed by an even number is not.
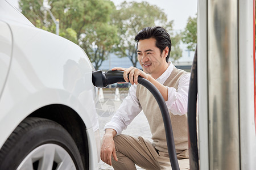
<svg viewBox="0 0 256 170"><path fill-rule="evenodd" d="M84 51L42 29L16 22L9 24L14 47L0 101L0 121L5 120L0 124L0 146L19 122L48 104L71 107L87 129L97 129L93 68Z"/></svg>

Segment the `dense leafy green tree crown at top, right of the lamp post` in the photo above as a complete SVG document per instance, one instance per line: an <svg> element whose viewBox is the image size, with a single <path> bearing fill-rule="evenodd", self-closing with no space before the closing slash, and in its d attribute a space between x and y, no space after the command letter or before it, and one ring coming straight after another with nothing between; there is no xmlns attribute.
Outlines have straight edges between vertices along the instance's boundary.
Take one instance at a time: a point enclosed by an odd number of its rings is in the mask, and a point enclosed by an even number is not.
<svg viewBox="0 0 256 170"><path fill-rule="evenodd" d="M61 27L72 28L77 32L77 39L87 28L110 20L115 8L108 0L49 0L51 11L60 19Z"/></svg>

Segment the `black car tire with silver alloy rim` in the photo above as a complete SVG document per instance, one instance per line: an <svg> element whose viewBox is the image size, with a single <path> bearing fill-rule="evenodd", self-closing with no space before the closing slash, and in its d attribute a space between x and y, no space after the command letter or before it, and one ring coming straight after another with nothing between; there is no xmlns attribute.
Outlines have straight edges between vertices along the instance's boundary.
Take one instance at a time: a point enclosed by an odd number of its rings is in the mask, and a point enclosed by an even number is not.
<svg viewBox="0 0 256 170"><path fill-rule="evenodd" d="M84 168L76 143L63 126L27 117L1 148L0 169Z"/></svg>

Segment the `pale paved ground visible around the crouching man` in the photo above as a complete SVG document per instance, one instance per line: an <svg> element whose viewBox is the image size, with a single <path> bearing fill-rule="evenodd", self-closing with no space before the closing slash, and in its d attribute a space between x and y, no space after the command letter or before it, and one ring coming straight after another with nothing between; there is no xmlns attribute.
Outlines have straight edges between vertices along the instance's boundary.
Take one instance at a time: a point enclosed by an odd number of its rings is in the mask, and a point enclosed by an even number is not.
<svg viewBox="0 0 256 170"><path fill-rule="evenodd" d="M97 113L99 114L98 122L100 124L100 135L104 135L104 126L109 122L117 110L119 105L122 103L122 100L127 95L127 91L119 90L120 101L115 101L118 99L117 95L115 96L115 90L104 90L104 101L96 105ZM126 130L123 130L123 134L133 135L135 137L143 136L151 140L150 128L148 122L143 112L139 113L137 117L134 118L133 122L127 127ZM100 162L98 164L99 169L113 169L113 167ZM137 167L137 169L142 170L142 168Z"/></svg>

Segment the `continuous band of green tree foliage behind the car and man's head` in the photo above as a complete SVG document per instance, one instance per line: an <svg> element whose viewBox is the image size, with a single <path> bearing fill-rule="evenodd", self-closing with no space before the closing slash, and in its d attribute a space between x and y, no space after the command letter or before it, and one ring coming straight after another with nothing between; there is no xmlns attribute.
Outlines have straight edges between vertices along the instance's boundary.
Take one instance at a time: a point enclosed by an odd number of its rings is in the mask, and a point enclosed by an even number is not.
<svg viewBox="0 0 256 170"><path fill-rule="evenodd" d="M36 26L55 33L56 26L43 4L44 0L19 0L20 10ZM48 6L60 20L59 35L79 44L98 69L115 50L137 65L135 35L144 27L160 25L172 39L170 60L181 57L180 36L172 33L163 10L147 2L123 2L118 10L110 0L48 0Z"/></svg>

